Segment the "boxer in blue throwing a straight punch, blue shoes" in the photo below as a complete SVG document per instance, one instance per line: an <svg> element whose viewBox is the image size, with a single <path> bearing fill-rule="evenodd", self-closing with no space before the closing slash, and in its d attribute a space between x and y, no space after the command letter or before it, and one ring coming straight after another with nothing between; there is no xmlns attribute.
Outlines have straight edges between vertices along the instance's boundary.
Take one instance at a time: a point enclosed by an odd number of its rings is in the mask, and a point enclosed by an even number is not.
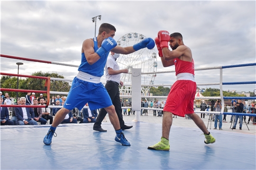
<svg viewBox="0 0 256 170"><path fill-rule="evenodd" d="M124 146L130 146L122 133L110 96L101 83L101 76L104 74L104 67L110 51L130 54L143 48L153 49L155 42L152 38L144 38L133 46L123 48L117 46L117 42L113 39L115 32L114 26L103 23L99 28L97 37L86 39L82 43L82 61L78 68L78 75L73 79L63 108L55 114L53 124L44 138L44 144L52 143L56 127L64 120L70 110L73 108L81 110L88 102L91 110L104 108L109 113L110 122L116 131L115 141Z"/></svg>

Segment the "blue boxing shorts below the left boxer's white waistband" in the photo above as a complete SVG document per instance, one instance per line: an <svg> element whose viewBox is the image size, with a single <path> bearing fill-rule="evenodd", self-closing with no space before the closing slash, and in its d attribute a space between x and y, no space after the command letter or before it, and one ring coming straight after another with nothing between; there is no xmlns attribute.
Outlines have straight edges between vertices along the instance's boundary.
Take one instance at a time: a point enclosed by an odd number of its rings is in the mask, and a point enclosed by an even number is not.
<svg viewBox="0 0 256 170"><path fill-rule="evenodd" d="M112 105L110 95L102 83L91 83L74 77L72 86L64 103L64 108L81 110L88 102L90 110Z"/></svg>

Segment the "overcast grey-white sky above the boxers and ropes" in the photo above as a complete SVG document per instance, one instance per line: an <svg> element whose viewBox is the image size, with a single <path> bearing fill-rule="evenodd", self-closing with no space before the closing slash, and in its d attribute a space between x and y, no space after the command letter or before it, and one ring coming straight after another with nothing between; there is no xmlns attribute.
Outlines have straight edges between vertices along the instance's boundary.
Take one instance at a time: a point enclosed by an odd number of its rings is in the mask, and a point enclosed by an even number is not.
<svg viewBox="0 0 256 170"><path fill-rule="evenodd" d="M1 1L1 54L79 65L82 42L102 23L116 27L115 40L159 30L180 32L191 48L195 68L256 62L255 1ZM157 51L155 47L155 51ZM1 72L57 72L73 79L77 68L1 59ZM157 71L164 68L158 58ZM219 69L195 71L197 83L218 83ZM105 81L102 76L101 81ZM157 74L155 84L173 84L174 73ZM256 67L223 69L223 82L256 81ZM213 87L215 86L200 86ZM223 90L253 91L256 85L224 85Z"/></svg>

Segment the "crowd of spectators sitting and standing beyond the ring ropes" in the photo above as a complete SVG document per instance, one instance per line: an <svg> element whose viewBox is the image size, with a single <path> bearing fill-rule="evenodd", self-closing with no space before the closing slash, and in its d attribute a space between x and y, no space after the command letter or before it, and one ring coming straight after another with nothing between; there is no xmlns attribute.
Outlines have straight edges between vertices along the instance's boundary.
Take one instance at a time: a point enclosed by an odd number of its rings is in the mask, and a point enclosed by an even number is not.
<svg viewBox="0 0 256 170"><path fill-rule="evenodd" d="M66 100L65 96L60 97L52 96L50 99L49 105L53 106L62 106L64 105L64 102ZM46 105L46 98L43 96L43 94L40 94L40 97L36 97L35 93L27 93L25 97L21 97L19 99L12 98L10 99L10 96L8 93L5 93L5 95L2 95L0 92L0 103L1 104L16 104L16 105ZM121 106L122 107L131 107L130 101L122 101ZM232 112L241 112L241 113L256 113L256 105L255 102L251 102L251 104L246 104L246 102L242 102L241 100L238 100L238 102L233 99L231 102L230 109ZM240 107L239 107L240 104ZM86 104L88 106L88 103ZM147 101L147 100L141 100L141 107L142 108L155 108L155 109L163 109L165 107L165 101L159 102L158 100L155 101ZM239 109L238 109L239 108ZM60 108L17 108L17 107L1 107L1 125L45 125L45 124L52 124L53 119L55 117L56 112ZM214 102L213 100L211 103L205 103L203 100L200 105L201 111L220 111L221 110L221 102L218 100L217 102ZM9 111L11 114L9 115ZM94 123L96 120L96 117L98 115L99 110L90 110L87 108L84 108L82 110L78 110L77 108L74 108L70 111L69 114L66 115L65 119L62 123ZM224 112L228 112L227 105L224 105ZM8 113L8 114L7 114ZM162 117L163 111L162 110L147 110L147 109L141 109L141 116L148 116L148 113L152 113L153 116L156 117ZM130 116L131 114L135 114L135 111L133 111L131 108L123 109L123 115L124 116ZM204 118L205 114L201 114L201 118ZM173 116L174 118L174 116ZM177 116L176 116L177 118ZM186 117L187 118L187 117ZM210 119L210 118L209 118ZM222 115L212 115L211 118L214 123L214 128L217 128L217 123L219 126L219 129L221 128L222 122L227 122L226 115L224 115L224 118L222 119ZM240 120L238 122L238 119ZM256 117L248 117L246 120L246 116L233 116L231 115L230 122L235 122L235 126L237 122L239 123L239 129L242 127L242 123L249 124L250 122L253 123L253 125L256 125ZM233 127L235 129L236 127Z"/></svg>

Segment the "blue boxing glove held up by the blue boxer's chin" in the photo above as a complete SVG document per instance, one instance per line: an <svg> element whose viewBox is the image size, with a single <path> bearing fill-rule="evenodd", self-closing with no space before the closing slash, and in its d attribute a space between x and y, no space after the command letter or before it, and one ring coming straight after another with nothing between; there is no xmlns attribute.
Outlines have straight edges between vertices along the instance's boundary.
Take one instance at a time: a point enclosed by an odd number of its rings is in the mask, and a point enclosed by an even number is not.
<svg viewBox="0 0 256 170"><path fill-rule="evenodd" d="M113 48L117 46L117 42L112 38L106 38L102 41L101 47L96 51L96 53L103 57L106 53L110 52Z"/></svg>

